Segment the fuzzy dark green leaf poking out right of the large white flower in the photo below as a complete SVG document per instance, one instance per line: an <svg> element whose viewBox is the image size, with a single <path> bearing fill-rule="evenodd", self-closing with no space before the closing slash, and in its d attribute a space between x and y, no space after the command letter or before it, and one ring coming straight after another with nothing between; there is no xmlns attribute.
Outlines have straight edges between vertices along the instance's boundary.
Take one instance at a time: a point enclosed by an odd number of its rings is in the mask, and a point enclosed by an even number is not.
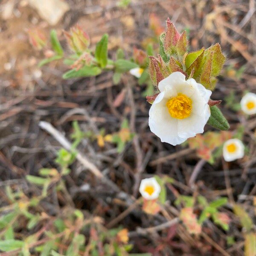
<svg viewBox="0 0 256 256"><path fill-rule="evenodd" d="M212 106L210 107L210 110L211 116L207 124L222 131L228 130L230 128L230 125L228 124L227 119L223 116L218 107Z"/></svg>

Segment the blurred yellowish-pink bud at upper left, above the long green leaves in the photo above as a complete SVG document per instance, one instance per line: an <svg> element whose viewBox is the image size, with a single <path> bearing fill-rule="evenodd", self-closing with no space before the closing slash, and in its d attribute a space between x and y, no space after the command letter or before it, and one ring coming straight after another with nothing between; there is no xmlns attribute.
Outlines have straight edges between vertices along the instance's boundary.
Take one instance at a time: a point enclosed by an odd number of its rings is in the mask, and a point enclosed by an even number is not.
<svg viewBox="0 0 256 256"><path fill-rule="evenodd" d="M76 53L82 53L87 50L90 44L90 38L81 27L76 24L70 29L70 32L64 31L67 43L70 49Z"/></svg>

